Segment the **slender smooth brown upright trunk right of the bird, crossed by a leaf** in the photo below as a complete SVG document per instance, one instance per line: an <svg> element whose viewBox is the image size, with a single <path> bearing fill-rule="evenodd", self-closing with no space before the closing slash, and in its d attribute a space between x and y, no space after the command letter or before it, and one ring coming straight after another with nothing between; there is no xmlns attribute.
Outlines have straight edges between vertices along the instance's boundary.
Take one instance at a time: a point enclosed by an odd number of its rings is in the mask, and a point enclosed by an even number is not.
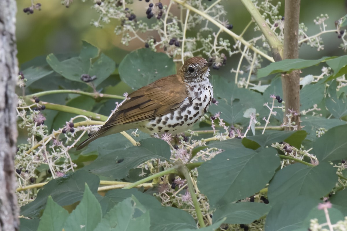
<svg viewBox="0 0 347 231"><path fill-rule="evenodd" d="M299 57L299 15L300 0L285 1L285 27L284 27L284 57L283 59L297 59ZM300 70L282 74L283 99L286 102L285 115L295 111L291 122L300 127ZM287 124L288 118L284 116L283 123ZM286 127L288 129L288 127Z"/></svg>

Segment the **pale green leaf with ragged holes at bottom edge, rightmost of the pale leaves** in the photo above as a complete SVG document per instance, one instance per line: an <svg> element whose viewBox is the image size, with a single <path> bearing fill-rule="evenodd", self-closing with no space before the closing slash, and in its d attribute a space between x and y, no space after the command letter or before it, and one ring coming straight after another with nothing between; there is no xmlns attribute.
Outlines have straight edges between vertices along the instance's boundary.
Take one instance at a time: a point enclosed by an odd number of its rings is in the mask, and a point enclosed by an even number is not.
<svg viewBox="0 0 347 231"><path fill-rule="evenodd" d="M149 212L146 212L146 209L134 199L129 197L118 203L104 216L94 231L149 231ZM138 214L135 215L136 212Z"/></svg>

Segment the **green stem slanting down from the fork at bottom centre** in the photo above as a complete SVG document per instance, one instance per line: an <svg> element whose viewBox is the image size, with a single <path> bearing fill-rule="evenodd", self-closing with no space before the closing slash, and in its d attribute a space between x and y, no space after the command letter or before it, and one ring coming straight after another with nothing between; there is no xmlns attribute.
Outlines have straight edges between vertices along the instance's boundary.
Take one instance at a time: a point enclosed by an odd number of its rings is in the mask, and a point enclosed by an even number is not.
<svg viewBox="0 0 347 231"><path fill-rule="evenodd" d="M200 209L200 204L197 201L197 197L196 197L196 193L194 190L194 185L193 185L193 181L191 178L191 174L188 171L187 167L183 164L177 165L176 167L177 167L178 171L186 178L186 181L188 184L188 191L191 194L193 205L195 207L197 220L199 222L200 227L203 228L203 227L205 227L204 217L203 217L201 209Z"/></svg>

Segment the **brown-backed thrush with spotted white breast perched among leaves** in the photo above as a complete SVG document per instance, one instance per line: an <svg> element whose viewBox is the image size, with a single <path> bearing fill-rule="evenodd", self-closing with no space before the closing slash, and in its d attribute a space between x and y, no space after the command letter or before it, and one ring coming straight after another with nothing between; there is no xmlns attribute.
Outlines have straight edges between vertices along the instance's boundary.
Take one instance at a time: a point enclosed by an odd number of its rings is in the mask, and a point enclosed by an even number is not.
<svg viewBox="0 0 347 231"><path fill-rule="evenodd" d="M187 59L177 74L158 79L128 95L108 121L77 146L80 150L103 136L129 129L152 136L187 131L213 100L210 66L203 57Z"/></svg>

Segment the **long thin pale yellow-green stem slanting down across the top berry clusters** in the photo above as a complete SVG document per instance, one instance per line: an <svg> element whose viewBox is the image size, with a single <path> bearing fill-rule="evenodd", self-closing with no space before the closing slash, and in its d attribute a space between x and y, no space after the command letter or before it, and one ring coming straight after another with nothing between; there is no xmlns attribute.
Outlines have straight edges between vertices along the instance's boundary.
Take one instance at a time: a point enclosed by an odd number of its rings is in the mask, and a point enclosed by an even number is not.
<svg viewBox="0 0 347 231"><path fill-rule="evenodd" d="M216 25L217 27L219 27L220 29L223 30L223 32L229 34L231 37L239 40L242 44L244 44L245 46L247 46L248 48L252 49L254 52L260 54L261 56L263 56L265 59L274 62L273 58L270 57L269 55L265 54L264 52L258 50L256 47L254 47L252 44L250 44L249 42L247 42L244 38L238 36L237 34L235 34L234 32L232 32L231 30L229 30L228 28L226 28L225 26L223 26L221 23L219 23L217 20L215 20L214 18L212 18L210 15L206 14L203 11L200 11L194 7L192 7L191 5L188 5L185 1L182 0L172 0L174 2L177 2L178 4L182 5L183 7L189 9L190 11L193 11L194 13L204 17L205 19L209 20L211 23L213 23L214 25ZM170 2L172 2L170 1Z"/></svg>

